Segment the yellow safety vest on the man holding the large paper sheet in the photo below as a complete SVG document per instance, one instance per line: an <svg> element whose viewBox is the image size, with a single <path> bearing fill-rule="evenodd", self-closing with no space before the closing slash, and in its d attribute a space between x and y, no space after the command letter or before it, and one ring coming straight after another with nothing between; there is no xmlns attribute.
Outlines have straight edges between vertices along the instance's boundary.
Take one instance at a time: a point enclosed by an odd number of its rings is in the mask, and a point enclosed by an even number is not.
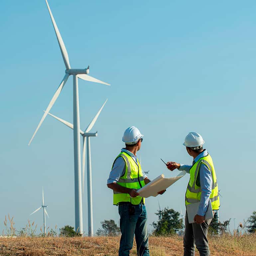
<svg viewBox="0 0 256 256"><path fill-rule="evenodd" d="M130 189L140 189L144 187L145 182L139 161L137 160L137 164L133 158L125 152L121 152L116 159L120 156L125 162L125 173L119 178L117 184ZM139 204L142 199L141 196L130 197L130 195L127 193L116 192L114 190L113 192L113 204L115 205L117 205L119 202L131 202L132 204ZM143 203L145 203L145 198L143 198Z"/></svg>

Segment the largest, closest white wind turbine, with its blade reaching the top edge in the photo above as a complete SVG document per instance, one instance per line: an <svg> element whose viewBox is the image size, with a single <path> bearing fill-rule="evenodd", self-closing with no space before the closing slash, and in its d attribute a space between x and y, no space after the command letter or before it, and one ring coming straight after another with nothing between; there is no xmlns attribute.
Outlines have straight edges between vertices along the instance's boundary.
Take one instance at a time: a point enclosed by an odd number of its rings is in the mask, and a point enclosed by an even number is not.
<svg viewBox="0 0 256 256"><path fill-rule="evenodd" d="M51 99L42 119L39 122L39 125L37 126L31 140L29 141L29 145L31 141L33 140L34 136L36 135L39 127L45 120L48 112L51 110L53 104L57 100L58 96L60 95L69 75L73 75L73 123L74 123L74 183L75 183L75 230L79 230L79 233L83 233L83 219L82 219L82 192L81 192L81 156L80 156L80 139L79 139L79 127L80 127L80 117L79 117L79 98L78 98L78 78L91 81L91 82L97 82L97 83L103 83L106 85L109 85L108 83L105 83L103 81L100 81L92 76L89 76L89 66L84 69L78 69L78 68L71 68L69 64L68 54L64 45L64 42L62 40L60 31L56 25L55 19L53 17L53 14L51 12L50 6L46 0L46 4L48 7L48 11L50 13L50 17L54 26L54 30L57 36L57 40L61 49L62 57L64 60L64 64L66 67L64 78L62 79L58 89L56 90L53 98Z"/></svg>

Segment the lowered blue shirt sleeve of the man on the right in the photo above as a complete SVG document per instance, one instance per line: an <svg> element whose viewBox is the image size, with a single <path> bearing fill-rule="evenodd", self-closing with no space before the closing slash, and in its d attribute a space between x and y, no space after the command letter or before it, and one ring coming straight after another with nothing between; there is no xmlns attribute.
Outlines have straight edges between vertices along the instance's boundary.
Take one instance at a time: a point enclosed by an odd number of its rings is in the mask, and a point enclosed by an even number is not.
<svg viewBox="0 0 256 256"><path fill-rule="evenodd" d="M197 214L204 216L210 199L211 188L212 188L212 177L211 172L205 164L201 164L199 167L200 175L200 187L202 190L200 204L197 210Z"/></svg>

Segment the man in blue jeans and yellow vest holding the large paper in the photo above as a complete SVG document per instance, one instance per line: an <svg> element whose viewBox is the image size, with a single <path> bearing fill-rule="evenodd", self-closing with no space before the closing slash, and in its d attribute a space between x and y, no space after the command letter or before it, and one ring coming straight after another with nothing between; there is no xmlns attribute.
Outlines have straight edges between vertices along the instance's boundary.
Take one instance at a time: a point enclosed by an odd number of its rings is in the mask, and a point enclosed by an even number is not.
<svg viewBox="0 0 256 256"><path fill-rule="evenodd" d="M107 181L107 187L113 190L113 204L118 205L120 215L119 256L129 256L134 235L138 256L149 256L145 198L136 192L150 182L136 156L142 140L143 135L138 128L131 126L125 130L125 148L116 157Z"/></svg>

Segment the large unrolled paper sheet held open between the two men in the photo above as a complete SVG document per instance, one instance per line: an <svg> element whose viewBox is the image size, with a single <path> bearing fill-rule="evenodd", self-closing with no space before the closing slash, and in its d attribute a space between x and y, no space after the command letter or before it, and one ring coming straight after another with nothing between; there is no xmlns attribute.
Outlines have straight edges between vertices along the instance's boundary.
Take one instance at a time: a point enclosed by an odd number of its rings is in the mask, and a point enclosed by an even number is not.
<svg viewBox="0 0 256 256"><path fill-rule="evenodd" d="M157 196L159 191L165 190L182 178L186 174L185 171L173 178L165 178L163 174L145 185L143 188L137 190L141 197Z"/></svg>

